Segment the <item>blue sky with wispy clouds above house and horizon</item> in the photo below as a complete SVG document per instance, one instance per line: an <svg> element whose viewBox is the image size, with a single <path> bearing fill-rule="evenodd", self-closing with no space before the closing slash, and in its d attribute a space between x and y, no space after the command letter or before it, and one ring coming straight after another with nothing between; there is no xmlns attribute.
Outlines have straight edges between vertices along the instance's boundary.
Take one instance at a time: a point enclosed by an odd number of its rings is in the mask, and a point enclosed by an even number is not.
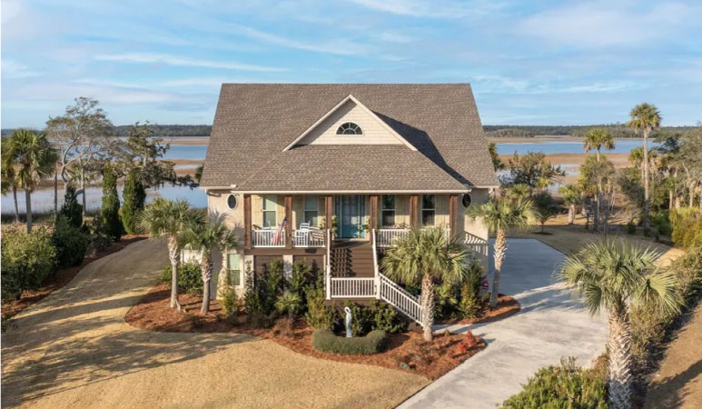
<svg viewBox="0 0 702 409"><path fill-rule="evenodd" d="M76 96L211 124L222 82L470 82L483 124L702 120L702 2L2 0L2 126Z"/></svg>

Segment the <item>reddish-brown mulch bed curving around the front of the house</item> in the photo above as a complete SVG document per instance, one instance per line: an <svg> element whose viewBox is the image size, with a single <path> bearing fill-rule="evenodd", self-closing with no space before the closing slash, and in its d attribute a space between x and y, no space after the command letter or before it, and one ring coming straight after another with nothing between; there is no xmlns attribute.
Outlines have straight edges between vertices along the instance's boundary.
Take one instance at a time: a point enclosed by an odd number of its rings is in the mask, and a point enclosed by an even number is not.
<svg viewBox="0 0 702 409"><path fill-rule="evenodd" d="M224 318L222 306L213 300L210 313L201 314L202 296L179 294L178 300L183 311L178 312L169 306L171 290L167 284L158 284L136 304L124 317L127 324L134 327L176 333L238 333L252 334L281 344L292 351L316 358L351 364L371 364L386 368L409 371L431 380L439 378L458 366L470 356L485 348L485 342L477 338L468 348L459 346L466 342L465 334L438 334L431 342L423 340L416 332L391 334L388 350L373 355L340 355L317 351L312 347L311 335L314 329L297 321L293 324L279 320L272 328L254 328L245 322L245 317L235 321ZM519 303L507 295L500 295L498 307L486 311L486 315L471 322L488 322L507 317L519 311ZM458 322L458 321L457 321ZM463 323L463 321L461 321ZM465 346L465 345L464 345Z"/></svg>

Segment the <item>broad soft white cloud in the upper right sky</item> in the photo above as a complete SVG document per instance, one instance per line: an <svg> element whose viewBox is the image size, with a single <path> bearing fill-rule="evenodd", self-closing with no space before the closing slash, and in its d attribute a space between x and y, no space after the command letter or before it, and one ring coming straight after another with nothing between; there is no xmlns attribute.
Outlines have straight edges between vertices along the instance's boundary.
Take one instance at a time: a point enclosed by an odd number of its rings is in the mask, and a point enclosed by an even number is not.
<svg viewBox="0 0 702 409"><path fill-rule="evenodd" d="M555 45L601 47L647 44L665 40L681 26L692 24L690 7L681 3L657 4L648 9L638 3L587 2L549 9L517 25L519 35L537 36Z"/></svg>

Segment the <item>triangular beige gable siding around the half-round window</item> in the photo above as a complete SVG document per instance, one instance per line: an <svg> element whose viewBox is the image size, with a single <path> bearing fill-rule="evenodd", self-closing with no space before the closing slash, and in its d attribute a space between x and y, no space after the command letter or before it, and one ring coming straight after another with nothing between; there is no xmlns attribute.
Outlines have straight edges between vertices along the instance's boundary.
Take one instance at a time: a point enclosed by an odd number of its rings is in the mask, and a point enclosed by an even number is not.
<svg viewBox="0 0 702 409"><path fill-rule="evenodd" d="M339 125L352 122L361 126L363 135L336 135ZM347 101L320 125L302 138L299 145L402 145L381 123L353 101Z"/></svg>

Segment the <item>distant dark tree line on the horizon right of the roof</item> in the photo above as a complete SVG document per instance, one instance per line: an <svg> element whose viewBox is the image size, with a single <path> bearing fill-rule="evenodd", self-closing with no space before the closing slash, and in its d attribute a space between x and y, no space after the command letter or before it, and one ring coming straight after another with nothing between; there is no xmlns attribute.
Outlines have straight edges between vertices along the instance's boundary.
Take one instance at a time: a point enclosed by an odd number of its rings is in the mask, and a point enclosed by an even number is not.
<svg viewBox="0 0 702 409"><path fill-rule="evenodd" d="M615 138L635 138L640 137L636 132L625 124L608 125L483 125L483 129L491 138L529 138L538 135L570 135L585 137L588 129L593 127L605 128L609 135ZM695 126L661 126L651 137L658 137L658 134L686 132L694 129Z"/></svg>

